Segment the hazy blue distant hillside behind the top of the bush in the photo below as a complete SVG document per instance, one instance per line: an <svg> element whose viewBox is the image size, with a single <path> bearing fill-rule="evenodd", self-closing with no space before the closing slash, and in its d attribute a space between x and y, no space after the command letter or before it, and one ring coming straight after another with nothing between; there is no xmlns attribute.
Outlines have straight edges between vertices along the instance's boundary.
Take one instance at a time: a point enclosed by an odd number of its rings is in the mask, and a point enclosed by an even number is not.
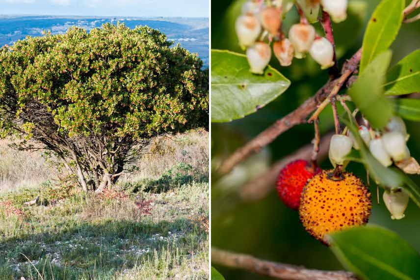
<svg viewBox="0 0 420 280"><path fill-rule="evenodd" d="M0 16L0 46L13 44L26 36L40 36L42 31L63 33L72 26L90 30L104 23L124 22L134 28L147 25L165 33L192 53L198 53L209 67L209 19L207 18L134 18L78 16Z"/></svg>

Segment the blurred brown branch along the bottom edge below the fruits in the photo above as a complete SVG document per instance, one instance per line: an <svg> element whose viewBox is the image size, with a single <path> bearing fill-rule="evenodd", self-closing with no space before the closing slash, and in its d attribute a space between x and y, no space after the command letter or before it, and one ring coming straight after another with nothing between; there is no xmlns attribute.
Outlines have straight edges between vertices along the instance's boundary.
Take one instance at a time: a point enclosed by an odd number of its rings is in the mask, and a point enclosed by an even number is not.
<svg viewBox="0 0 420 280"><path fill-rule="evenodd" d="M211 248L211 262L283 280L357 280L352 273L345 271L306 269L301 266L261 260L251 255L227 252L214 247Z"/></svg>

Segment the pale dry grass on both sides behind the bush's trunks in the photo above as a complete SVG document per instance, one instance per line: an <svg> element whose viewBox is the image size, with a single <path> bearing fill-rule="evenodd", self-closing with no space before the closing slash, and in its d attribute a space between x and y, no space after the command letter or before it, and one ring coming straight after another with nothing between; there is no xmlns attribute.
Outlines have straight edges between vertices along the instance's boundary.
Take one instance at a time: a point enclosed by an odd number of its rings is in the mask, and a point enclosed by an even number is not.
<svg viewBox="0 0 420 280"><path fill-rule="evenodd" d="M193 172L209 173L209 135L204 129L152 140L141 157L133 163L138 171L121 176L120 182L156 179L168 168L185 163ZM55 168L42 157L42 152L17 151L0 140L0 191L36 187L57 178Z"/></svg>

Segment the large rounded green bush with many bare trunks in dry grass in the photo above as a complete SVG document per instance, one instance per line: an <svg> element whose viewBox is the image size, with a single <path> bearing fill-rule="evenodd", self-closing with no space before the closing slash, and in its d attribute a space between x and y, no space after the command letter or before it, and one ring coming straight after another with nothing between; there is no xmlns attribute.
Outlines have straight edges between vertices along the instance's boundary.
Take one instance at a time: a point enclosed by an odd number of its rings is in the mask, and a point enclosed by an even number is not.
<svg viewBox="0 0 420 280"><path fill-rule="evenodd" d="M51 152L84 191L111 186L151 138L208 125L208 73L172 44L105 24L2 47L1 137Z"/></svg>

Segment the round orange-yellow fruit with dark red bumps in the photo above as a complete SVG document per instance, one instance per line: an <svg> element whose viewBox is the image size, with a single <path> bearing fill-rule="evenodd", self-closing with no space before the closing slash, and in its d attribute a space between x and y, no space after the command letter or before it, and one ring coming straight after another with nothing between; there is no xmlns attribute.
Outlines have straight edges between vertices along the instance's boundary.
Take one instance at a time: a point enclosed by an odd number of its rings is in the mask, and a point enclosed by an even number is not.
<svg viewBox="0 0 420 280"><path fill-rule="evenodd" d="M305 229L328 245L326 234L366 224L372 204L370 192L352 173L333 180L333 170L316 174L303 188L299 216Z"/></svg>

